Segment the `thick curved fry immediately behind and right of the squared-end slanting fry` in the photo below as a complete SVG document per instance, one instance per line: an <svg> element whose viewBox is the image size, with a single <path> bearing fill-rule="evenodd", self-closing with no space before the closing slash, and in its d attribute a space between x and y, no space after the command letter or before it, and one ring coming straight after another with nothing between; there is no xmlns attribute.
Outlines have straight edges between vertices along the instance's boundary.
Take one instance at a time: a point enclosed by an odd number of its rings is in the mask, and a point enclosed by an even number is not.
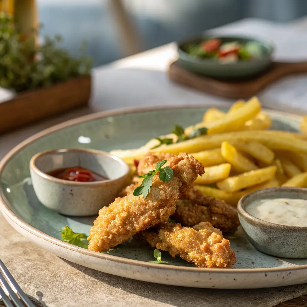
<svg viewBox="0 0 307 307"><path fill-rule="evenodd" d="M275 154L272 150L262 145L259 142L230 142L237 150L246 152L252 157L266 164L271 164L274 160Z"/></svg>

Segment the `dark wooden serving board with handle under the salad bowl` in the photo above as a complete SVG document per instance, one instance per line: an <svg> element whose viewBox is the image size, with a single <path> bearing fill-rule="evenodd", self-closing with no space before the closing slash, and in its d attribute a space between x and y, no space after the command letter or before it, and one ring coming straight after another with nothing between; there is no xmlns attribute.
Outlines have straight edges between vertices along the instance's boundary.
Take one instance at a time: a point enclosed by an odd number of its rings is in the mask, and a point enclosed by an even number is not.
<svg viewBox="0 0 307 307"><path fill-rule="evenodd" d="M278 79L298 73L307 73L307 62L274 62L261 76L248 80L224 81L198 75L182 68L178 61L169 66L169 78L177 83L206 93L233 99L248 99Z"/></svg>

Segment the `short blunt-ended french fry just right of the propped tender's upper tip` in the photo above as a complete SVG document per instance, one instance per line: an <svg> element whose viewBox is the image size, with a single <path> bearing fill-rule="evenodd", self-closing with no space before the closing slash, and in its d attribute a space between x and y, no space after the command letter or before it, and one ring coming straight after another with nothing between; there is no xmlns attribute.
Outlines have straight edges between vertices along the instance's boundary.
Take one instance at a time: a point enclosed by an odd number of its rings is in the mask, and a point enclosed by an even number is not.
<svg viewBox="0 0 307 307"><path fill-rule="evenodd" d="M196 178L195 184L208 185L223 180L229 176L230 170L231 164L229 163L205 167L205 173Z"/></svg>

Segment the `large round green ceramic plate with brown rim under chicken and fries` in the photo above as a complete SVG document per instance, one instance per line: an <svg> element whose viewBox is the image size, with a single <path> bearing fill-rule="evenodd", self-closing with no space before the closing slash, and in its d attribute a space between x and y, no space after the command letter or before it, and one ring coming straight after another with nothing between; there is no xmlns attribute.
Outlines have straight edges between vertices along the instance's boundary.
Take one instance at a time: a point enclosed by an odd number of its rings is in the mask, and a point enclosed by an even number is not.
<svg viewBox="0 0 307 307"><path fill-rule="evenodd" d="M241 229L231 237L237 263L229 269L200 269L162 252L169 265L153 264L153 249L131 240L114 251L96 253L61 241L59 229L69 225L76 232L88 231L95 219L60 215L47 209L33 191L29 173L31 157L43 150L82 147L109 151L145 144L168 133L175 123L199 122L205 108L111 111L87 115L54 126L22 142L0 162L0 209L9 223L40 247L72 262L123 277L192 287L262 288L307 282L307 259L277 259L253 248ZM274 129L297 131L299 122L272 114ZM297 118L297 117L296 117ZM82 143L80 136L90 138ZM86 139L89 141L89 139ZM80 143L81 142L81 143ZM4 234L2 234L4 235Z"/></svg>

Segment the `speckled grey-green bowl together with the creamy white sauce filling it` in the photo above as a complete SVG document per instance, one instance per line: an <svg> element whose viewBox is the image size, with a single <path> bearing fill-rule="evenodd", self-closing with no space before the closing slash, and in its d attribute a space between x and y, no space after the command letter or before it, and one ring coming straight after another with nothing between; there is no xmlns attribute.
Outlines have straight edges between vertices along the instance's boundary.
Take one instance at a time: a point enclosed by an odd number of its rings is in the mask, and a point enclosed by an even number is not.
<svg viewBox="0 0 307 307"><path fill-rule="evenodd" d="M259 251L275 257L307 258L306 214L307 188L261 189L238 203L247 239Z"/></svg>

